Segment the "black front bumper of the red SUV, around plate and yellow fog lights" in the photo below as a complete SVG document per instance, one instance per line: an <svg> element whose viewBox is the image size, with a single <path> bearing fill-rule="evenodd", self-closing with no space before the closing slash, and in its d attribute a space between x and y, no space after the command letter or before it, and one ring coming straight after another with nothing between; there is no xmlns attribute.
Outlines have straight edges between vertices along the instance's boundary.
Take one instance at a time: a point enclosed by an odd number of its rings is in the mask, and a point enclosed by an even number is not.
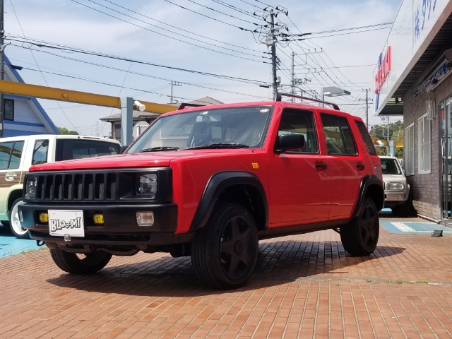
<svg viewBox="0 0 452 339"><path fill-rule="evenodd" d="M66 243L64 237L49 234L48 223L39 221L39 214L48 210L82 210L85 237L71 237L70 244L93 245L139 245L174 244L184 242L184 236L175 234L177 230L177 205L165 204L35 204L24 203L19 207L23 216L22 226L30 230L32 239L45 243ZM137 212L153 211L152 226L138 226ZM103 225L95 225L93 215L102 213Z"/></svg>

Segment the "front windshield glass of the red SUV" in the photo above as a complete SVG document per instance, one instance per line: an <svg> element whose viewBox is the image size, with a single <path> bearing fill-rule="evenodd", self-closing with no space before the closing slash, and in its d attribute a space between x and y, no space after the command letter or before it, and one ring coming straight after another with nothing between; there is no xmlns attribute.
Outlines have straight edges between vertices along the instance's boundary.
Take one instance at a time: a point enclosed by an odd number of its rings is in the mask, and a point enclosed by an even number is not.
<svg viewBox="0 0 452 339"><path fill-rule="evenodd" d="M181 111L157 119L127 153L184 148L260 148L270 106Z"/></svg>

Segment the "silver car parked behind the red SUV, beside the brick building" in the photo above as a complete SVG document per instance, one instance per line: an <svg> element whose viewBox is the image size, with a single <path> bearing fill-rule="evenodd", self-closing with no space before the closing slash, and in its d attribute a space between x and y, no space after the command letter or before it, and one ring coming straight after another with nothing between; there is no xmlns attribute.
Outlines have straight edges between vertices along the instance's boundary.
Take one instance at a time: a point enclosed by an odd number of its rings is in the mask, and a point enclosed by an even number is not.
<svg viewBox="0 0 452 339"><path fill-rule="evenodd" d="M381 172L383 173L384 206L402 216L410 214L410 185L396 157L380 156Z"/></svg>

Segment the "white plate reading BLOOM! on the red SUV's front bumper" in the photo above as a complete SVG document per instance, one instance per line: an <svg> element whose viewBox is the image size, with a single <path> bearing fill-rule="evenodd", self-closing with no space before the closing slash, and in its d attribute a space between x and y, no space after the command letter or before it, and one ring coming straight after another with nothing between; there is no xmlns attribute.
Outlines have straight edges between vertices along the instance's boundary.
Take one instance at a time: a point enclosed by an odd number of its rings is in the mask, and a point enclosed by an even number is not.
<svg viewBox="0 0 452 339"><path fill-rule="evenodd" d="M49 210L50 235L85 237L83 210Z"/></svg>

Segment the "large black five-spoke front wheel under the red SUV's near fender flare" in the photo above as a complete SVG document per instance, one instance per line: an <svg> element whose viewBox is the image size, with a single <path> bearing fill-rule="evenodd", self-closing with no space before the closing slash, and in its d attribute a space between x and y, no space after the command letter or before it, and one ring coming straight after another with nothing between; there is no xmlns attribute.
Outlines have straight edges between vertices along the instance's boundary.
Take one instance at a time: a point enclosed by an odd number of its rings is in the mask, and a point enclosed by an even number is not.
<svg viewBox="0 0 452 339"><path fill-rule="evenodd" d="M220 290L244 285L256 267L257 257L256 222L237 203L216 206L191 244L191 262L199 280Z"/></svg>

